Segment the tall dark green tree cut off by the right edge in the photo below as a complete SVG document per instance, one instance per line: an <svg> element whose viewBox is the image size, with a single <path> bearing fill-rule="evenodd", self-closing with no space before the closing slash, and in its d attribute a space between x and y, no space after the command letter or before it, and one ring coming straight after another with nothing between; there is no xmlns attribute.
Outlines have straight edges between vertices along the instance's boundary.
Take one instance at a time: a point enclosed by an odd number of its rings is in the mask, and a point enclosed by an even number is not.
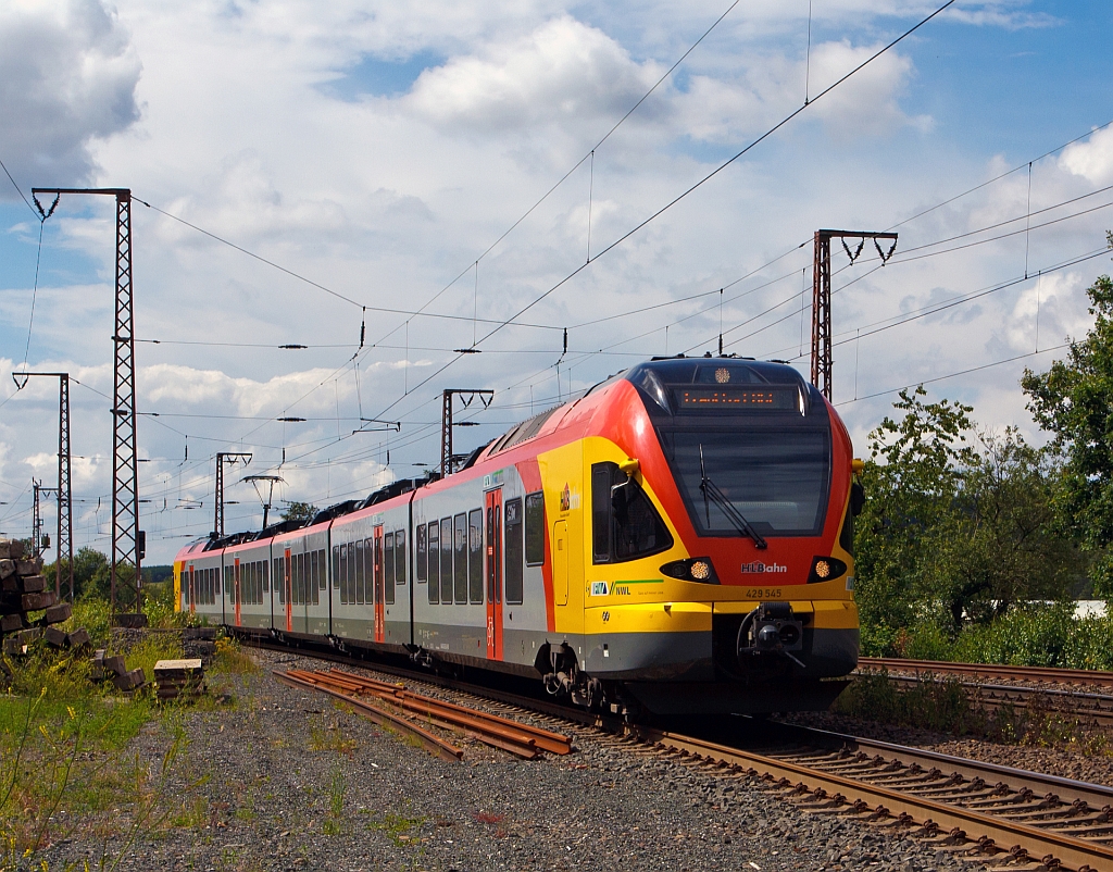
<svg viewBox="0 0 1113 872"><path fill-rule="evenodd" d="M1113 234L1110 235L1113 247ZM1058 509L1064 525L1097 553L1092 575L1113 599L1113 282L1086 291L1094 326L1045 373L1025 370L1021 385L1036 422L1054 434L1064 459Z"/></svg>

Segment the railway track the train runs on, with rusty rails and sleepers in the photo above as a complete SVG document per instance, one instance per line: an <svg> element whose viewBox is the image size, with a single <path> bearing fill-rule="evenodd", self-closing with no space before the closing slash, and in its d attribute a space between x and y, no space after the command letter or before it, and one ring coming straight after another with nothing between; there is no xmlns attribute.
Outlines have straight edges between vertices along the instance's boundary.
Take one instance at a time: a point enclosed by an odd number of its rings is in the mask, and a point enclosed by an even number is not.
<svg viewBox="0 0 1113 872"><path fill-rule="evenodd" d="M259 647L290 651L267 643ZM622 724L427 673L333 651L296 650L451 690L461 705L470 699L473 711L482 700L508 717L540 716L552 726L572 723L595 735L601 731L604 741L631 752L668 756L719 777L759 777L807 812L907 827L940 850L995 866L1113 870L1111 787L795 725L755 724L750 718L720 719L683 733Z"/></svg>

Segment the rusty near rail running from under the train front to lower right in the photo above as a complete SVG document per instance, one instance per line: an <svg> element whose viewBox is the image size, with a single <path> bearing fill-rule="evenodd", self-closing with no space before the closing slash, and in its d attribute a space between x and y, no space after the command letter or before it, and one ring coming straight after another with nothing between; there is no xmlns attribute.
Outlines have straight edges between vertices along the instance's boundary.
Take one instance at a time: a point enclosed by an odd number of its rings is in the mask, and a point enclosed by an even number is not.
<svg viewBox="0 0 1113 872"><path fill-rule="evenodd" d="M1057 860L1061 869L1074 872L1097 872L1097 869L1113 869L1113 847L1095 842L1087 842L1064 833L1041 830L1028 824L984 814L979 811L951 805L924 796L904 793L890 787L870 784L845 775L824 772L823 770L780 760L772 756L756 754L740 748L729 747L703 739L681 736L667 731L640 728L639 737L663 748L669 748L684 755L713 763L738 766L767 777L770 781L782 782L784 786L797 783L798 792L811 788L817 798L830 798L835 805L861 804L863 812L870 811L878 816L907 815L907 820L928 829L952 830L964 839L967 833L983 836L979 844L986 845L985 839L993 840L994 845L1018 845L1030 856L1042 859L1045 864ZM828 792L834 793L829 796ZM1099 863L1092 866L1091 863Z"/></svg>

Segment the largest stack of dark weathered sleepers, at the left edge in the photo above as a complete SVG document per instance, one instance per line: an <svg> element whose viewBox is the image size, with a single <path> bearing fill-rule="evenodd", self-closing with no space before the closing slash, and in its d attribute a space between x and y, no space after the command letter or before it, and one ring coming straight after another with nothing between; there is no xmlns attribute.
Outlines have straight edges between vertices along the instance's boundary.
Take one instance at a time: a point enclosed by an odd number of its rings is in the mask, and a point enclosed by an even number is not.
<svg viewBox="0 0 1113 872"><path fill-rule="evenodd" d="M32 621L28 618L30 611L45 614ZM55 594L47 590L42 558L24 556L23 543L18 539L0 539L0 637L4 654L26 654L27 647L43 635L58 647L88 645L89 634L85 629L66 634L53 626L68 620L70 615L70 604L58 602Z"/></svg>

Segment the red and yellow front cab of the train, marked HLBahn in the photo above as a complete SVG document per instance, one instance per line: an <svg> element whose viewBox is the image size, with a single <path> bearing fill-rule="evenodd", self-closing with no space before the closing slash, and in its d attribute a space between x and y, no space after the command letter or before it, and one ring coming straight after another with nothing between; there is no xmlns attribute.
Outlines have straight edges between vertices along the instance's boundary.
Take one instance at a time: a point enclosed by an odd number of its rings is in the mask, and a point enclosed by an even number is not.
<svg viewBox="0 0 1113 872"><path fill-rule="evenodd" d="M581 443L578 668L659 714L826 708L858 657L849 438L788 366L687 364L631 371ZM725 374L774 408L678 408Z"/></svg>

